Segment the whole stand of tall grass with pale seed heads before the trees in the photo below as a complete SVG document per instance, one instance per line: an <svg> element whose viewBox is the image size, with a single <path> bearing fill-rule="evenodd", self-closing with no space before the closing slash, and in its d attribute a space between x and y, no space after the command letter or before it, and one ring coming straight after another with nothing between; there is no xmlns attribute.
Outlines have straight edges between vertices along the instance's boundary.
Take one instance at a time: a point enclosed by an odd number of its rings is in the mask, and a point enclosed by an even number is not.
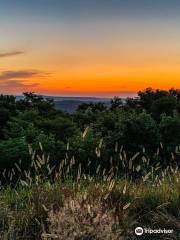
<svg viewBox="0 0 180 240"><path fill-rule="evenodd" d="M98 157L101 144L95 149ZM116 145L119 165L110 159L109 169L98 165L92 175L68 156L69 145L58 166L51 165L41 144L39 148L41 154L29 146L30 169L23 170L19 162L1 174L3 182L13 182L0 190L1 239L136 239L136 226L172 228L166 239L180 239L177 166L152 166L145 157L137 164L139 153L128 159ZM122 168L125 174L119 178ZM157 239L146 237L141 239Z"/></svg>

